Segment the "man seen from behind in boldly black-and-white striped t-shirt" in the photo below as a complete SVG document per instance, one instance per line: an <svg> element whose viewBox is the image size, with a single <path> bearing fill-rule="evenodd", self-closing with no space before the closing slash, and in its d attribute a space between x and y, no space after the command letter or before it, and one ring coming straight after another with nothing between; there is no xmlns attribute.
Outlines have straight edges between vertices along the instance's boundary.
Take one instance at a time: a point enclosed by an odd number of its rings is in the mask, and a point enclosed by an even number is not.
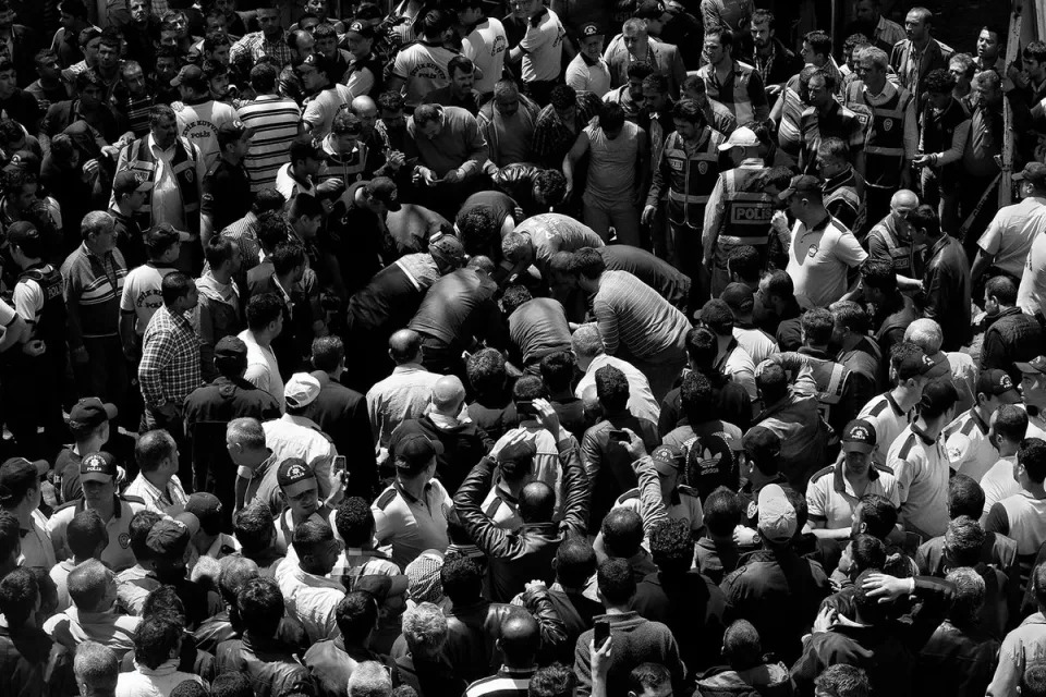
<svg viewBox="0 0 1046 697"><path fill-rule="evenodd" d="M255 192L276 185L276 173L287 163L302 120L297 102L278 94L277 77L276 66L269 63L252 68L251 87L258 96L236 110L240 121L254 131L243 166Z"/></svg>

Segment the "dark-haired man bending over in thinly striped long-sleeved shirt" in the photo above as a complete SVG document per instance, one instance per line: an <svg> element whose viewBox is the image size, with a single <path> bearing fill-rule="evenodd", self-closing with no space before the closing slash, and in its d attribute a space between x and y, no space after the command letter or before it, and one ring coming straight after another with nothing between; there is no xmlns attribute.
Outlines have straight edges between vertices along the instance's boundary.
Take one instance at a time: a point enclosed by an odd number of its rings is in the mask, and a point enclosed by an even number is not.
<svg viewBox="0 0 1046 697"><path fill-rule="evenodd" d="M690 321L657 291L628 271L607 271L592 248L574 255L571 272L593 296L593 311L607 353L630 360L661 400L686 365Z"/></svg>

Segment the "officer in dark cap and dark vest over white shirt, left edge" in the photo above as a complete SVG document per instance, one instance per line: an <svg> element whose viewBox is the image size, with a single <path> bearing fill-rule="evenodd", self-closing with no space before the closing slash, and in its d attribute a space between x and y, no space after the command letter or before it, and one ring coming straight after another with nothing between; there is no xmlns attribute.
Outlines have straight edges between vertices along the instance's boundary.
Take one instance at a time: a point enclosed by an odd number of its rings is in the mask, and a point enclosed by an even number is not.
<svg viewBox="0 0 1046 697"><path fill-rule="evenodd" d="M66 359L62 274L44 262L46 243L32 223L8 228L8 243L21 269L12 302L28 331L22 333L20 345L3 354L4 388L9 395L19 395L19 406L8 409L7 421L21 453L50 460L66 433L61 403Z"/></svg>

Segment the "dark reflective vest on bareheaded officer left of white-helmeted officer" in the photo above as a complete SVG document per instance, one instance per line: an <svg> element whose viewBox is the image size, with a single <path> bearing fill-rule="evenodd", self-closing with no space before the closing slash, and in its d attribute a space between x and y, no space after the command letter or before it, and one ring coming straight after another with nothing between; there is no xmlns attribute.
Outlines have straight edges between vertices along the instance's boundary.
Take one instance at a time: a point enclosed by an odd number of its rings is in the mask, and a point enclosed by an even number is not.
<svg viewBox="0 0 1046 697"><path fill-rule="evenodd" d="M665 139L668 164L668 219L678 225L700 228L705 217L708 195L719 178L719 144L722 134L708 129L707 144L693 156L688 155L683 138L672 131Z"/></svg>

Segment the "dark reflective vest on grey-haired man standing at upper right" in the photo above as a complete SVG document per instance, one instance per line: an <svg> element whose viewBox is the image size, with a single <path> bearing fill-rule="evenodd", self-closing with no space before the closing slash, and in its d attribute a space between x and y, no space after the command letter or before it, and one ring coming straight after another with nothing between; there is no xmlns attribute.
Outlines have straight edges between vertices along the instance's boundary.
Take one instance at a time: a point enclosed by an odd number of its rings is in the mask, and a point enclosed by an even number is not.
<svg viewBox="0 0 1046 697"><path fill-rule="evenodd" d="M873 105L864 83L854 81L847 90L846 106L866 126L864 143L865 181L869 186L893 188L900 185L904 162L904 114L912 95L893 85L893 96L885 103Z"/></svg>

